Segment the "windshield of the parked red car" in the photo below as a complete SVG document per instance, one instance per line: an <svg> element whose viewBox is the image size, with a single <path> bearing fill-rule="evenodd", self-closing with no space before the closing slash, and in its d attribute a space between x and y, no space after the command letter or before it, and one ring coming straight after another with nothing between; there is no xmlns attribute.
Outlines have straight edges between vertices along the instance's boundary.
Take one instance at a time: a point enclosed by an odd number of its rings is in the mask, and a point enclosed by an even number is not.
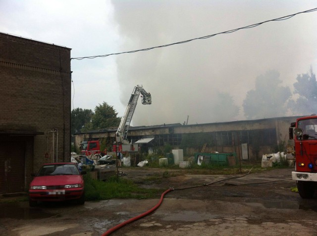
<svg viewBox="0 0 317 236"><path fill-rule="evenodd" d="M74 164L50 164L43 165L38 175L79 175L79 171Z"/></svg>

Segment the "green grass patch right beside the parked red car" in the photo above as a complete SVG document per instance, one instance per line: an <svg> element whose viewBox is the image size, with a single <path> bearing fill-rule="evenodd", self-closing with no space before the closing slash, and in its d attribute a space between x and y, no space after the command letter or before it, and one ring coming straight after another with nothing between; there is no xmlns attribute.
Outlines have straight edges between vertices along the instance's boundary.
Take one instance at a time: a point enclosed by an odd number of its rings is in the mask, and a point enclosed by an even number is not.
<svg viewBox="0 0 317 236"><path fill-rule="evenodd" d="M110 177L107 181L92 179L85 175L86 200L106 200L111 198L151 198L156 197L158 190L139 188L132 180L122 179L117 176Z"/></svg>

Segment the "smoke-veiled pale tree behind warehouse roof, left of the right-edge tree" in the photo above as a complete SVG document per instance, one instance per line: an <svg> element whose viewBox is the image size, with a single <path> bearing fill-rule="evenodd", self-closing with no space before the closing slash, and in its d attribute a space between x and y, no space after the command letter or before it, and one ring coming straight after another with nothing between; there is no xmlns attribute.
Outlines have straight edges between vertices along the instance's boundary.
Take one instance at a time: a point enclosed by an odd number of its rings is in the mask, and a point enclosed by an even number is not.
<svg viewBox="0 0 317 236"><path fill-rule="evenodd" d="M287 100L291 96L288 86L282 82L277 71L267 71L256 78L256 88L247 92L243 101L244 114L248 119L285 116Z"/></svg>

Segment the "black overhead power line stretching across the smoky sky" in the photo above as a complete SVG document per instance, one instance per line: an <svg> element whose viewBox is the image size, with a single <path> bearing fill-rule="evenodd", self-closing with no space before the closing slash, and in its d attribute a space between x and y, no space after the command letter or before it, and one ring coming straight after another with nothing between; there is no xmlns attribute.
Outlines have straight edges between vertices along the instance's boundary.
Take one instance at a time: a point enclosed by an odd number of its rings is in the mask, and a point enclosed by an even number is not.
<svg viewBox="0 0 317 236"><path fill-rule="evenodd" d="M213 34L213 35L203 36L203 37L194 38L194 39L188 39L188 40L185 40L185 41L174 42L174 43L169 43L169 44L165 44L165 45L160 45L160 46L155 46L155 47L149 47L149 48L144 48L144 49L138 49L138 50L133 50L133 51L110 53L110 54L99 55L99 56L74 57L74 58L70 58L70 59L71 59L71 60L72 60L72 59L76 59L76 60L94 59L94 58L97 58L97 57L107 57L107 56L119 55L119 54L125 54L125 53L134 53L134 52L139 52L139 51L148 51L148 50L152 50L152 49L154 49L154 48L172 46L172 45L175 45L175 44L186 43L186 42L190 42L190 41L197 40L197 39L209 39L209 38L214 37L214 36L216 36L216 35L231 34L231 33L236 32L236 31L238 31L238 30L244 30L244 29L254 28L254 27L260 26L260 25L262 25L262 24L264 24L264 23L270 22L270 21L288 20L288 19L290 19L290 18L292 18L293 16L296 16L296 15L298 15L298 14L310 13L310 12L313 12L313 11L317 11L317 8L310 9L310 10L306 10L306 11L297 12L297 13L295 13L295 14L291 14L291 15L288 15L288 16L279 17L279 18L272 19L272 20L263 21L263 22L260 22L260 23L257 23L257 24L253 24L253 25L249 25L249 26L244 26L244 27L237 28L237 29L234 29L234 30L228 30L228 31L224 31L224 32L221 32L221 33Z"/></svg>

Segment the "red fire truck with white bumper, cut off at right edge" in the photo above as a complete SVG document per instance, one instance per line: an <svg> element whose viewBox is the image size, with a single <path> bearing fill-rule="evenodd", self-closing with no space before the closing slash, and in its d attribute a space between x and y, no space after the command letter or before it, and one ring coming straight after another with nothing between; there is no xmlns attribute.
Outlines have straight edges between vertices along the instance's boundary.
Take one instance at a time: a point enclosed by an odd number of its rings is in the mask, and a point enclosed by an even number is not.
<svg viewBox="0 0 317 236"><path fill-rule="evenodd" d="M291 123L289 138L295 143L295 171L292 171L292 179L296 180L302 198L312 198L317 190L316 114L298 118Z"/></svg>

